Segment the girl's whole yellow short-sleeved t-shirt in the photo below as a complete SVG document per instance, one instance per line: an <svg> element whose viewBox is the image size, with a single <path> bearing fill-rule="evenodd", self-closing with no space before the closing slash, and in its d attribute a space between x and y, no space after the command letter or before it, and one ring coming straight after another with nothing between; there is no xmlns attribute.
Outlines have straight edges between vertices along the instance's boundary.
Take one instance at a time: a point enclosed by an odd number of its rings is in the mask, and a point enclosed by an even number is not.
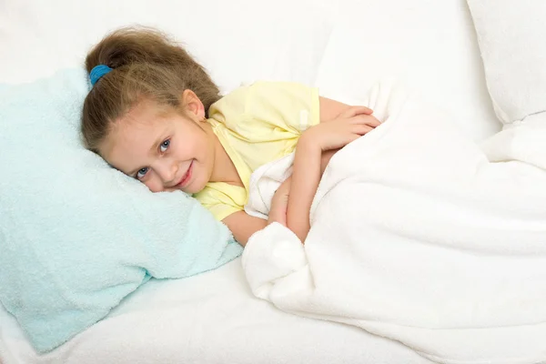
<svg viewBox="0 0 546 364"><path fill-rule="evenodd" d="M319 124L319 90L291 82L257 82L222 97L210 106L208 116L245 186L209 182L194 195L222 220L244 209L254 170L292 153L301 133Z"/></svg>

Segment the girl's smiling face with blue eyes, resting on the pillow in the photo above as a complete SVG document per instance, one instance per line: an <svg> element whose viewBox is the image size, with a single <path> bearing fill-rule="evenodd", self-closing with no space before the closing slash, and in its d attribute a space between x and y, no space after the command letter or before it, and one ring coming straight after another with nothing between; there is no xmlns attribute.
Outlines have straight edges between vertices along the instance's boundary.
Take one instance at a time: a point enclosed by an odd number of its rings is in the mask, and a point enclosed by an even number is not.
<svg viewBox="0 0 546 364"><path fill-rule="evenodd" d="M213 133L204 114L161 113L152 102L142 101L116 120L99 152L152 192L196 193L210 180L214 164Z"/></svg>

